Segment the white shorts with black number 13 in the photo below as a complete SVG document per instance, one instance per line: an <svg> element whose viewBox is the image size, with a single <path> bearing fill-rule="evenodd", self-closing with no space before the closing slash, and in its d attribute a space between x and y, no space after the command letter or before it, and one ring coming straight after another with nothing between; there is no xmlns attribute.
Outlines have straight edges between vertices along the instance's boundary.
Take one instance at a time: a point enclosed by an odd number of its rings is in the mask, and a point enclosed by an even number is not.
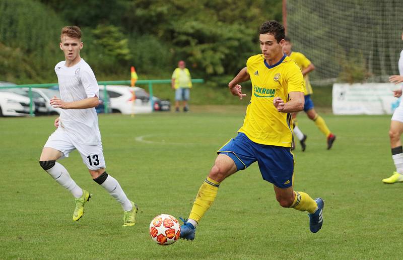
<svg viewBox="0 0 403 260"><path fill-rule="evenodd" d="M69 154L75 149L79 151L83 163L90 170L98 170L106 168L102 145L85 145L77 143L66 134L63 128L58 127L53 134L50 135L46 144L43 146L56 149L61 152L61 158L69 157Z"/></svg>

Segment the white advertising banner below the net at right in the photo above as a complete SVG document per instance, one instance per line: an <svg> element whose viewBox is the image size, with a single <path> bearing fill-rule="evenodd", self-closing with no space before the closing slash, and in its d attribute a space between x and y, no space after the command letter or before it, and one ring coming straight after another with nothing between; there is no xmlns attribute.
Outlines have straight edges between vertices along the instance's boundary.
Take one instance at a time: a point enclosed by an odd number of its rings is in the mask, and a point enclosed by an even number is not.
<svg viewBox="0 0 403 260"><path fill-rule="evenodd" d="M392 90L399 88L400 85L392 83L333 84L333 114L392 114L400 103Z"/></svg>

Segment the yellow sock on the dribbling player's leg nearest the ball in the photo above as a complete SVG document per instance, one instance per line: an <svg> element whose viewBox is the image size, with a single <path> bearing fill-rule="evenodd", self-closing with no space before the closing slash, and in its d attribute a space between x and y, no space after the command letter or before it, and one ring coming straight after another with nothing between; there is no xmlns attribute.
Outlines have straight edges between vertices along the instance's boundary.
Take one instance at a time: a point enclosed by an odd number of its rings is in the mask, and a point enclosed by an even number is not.
<svg viewBox="0 0 403 260"><path fill-rule="evenodd" d="M210 209L210 206L216 199L219 186L220 182L209 177L205 179L197 192L196 200L193 203L189 219L194 219L197 223L200 221L201 217L203 217L206 211Z"/></svg>

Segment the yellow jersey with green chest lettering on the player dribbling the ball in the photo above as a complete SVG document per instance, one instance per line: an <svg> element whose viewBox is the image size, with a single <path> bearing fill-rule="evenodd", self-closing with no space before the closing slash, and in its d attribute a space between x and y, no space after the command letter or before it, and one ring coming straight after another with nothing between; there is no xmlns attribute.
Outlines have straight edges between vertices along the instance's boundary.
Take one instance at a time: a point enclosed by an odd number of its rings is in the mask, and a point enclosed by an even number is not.
<svg viewBox="0 0 403 260"><path fill-rule="evenodd" d="M301 69L287 55L270 66L261 54L248 58L246 68L252 81L252 96L238 132L258 144L291 147L291 113L277 111L273 99L280 97L287 102L290 92L304 92Z"/></svg>

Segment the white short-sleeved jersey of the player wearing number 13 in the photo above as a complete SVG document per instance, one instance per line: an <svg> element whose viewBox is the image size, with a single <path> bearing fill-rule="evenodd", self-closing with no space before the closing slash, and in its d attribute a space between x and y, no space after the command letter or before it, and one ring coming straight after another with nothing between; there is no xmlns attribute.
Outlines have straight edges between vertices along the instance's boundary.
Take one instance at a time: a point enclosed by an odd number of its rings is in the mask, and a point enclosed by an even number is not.
<svg viewBox="0 0 403 260"><path fill-rule="evenodd" d="M99 88L91 67L82 58L73 67L65 67L60 61L54 68L59 82L61 100L73 102L90 97L99 97ZM95 108L63 109L60 114L59 127L64 133L81 144L101 144L98 128L98 116Z"/></svg>

